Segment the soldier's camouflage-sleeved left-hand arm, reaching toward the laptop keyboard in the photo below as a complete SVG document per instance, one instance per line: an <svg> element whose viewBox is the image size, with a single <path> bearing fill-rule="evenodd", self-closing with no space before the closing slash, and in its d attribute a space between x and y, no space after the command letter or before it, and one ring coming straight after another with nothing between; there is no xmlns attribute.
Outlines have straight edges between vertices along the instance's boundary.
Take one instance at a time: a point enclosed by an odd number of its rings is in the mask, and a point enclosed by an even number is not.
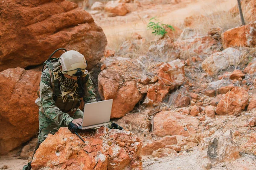
<svg viewBox="0 0 256 170"><path fill-rule="evenodd" d="M41 75L40 96L44 114L51 119L52 122L55 122L58 126L68 126L68 124L73 121L72 117L70 117L67 113L62 112L55 105L52 97L52 88L50 85L50 74L48 68L45 69Z"/></svg>

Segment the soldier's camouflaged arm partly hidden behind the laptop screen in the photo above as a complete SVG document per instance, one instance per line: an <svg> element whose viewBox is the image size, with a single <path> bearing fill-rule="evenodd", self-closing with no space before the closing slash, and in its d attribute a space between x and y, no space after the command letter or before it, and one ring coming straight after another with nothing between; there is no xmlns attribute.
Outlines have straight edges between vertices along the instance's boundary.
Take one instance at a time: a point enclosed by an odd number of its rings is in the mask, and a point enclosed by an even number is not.
<svg viewBox="0 0 256 170"><path fill-rule="evenodd" d="M96 102L96 96L93 90L93 82L89 77L87 83L84 86L84 103Z"/></svg>

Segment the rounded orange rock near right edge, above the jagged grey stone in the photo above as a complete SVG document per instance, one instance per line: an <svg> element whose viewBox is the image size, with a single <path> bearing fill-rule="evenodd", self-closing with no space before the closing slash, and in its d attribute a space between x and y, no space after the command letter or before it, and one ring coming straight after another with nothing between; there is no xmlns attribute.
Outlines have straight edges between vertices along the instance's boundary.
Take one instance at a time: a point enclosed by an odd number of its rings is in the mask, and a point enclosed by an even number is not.
<svg viewBox="0 0 256 170"><path fill-rule="evenodd" d="M216 113L219 115L238 115L248 105L249 96L243 88L233 88L222 96L218 103Z"/></svg>

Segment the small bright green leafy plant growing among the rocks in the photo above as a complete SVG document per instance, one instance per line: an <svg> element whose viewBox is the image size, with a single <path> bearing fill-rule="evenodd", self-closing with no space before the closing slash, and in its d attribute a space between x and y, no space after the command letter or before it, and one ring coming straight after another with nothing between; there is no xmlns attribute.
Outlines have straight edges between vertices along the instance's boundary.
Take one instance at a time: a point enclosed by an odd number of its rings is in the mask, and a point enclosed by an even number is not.
<svg viewBox="0 0 256 170"><path fill-rule="evenodd" d="M152 30L152 34L162 35L163 37L167 33L165 28L171 28L173 31L175 30L168 24L160 23L155 17L151 18L149 21L147 28Z"/></svg>

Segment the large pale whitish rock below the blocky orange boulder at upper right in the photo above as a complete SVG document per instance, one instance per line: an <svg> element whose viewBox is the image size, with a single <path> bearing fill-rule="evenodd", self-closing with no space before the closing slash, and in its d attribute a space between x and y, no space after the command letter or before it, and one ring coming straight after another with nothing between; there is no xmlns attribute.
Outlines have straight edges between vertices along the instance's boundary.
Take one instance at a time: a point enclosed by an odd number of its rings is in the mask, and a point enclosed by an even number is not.
<svg viewBox="0 0 256 170"><path fill-rule="evenodd" d="M235 48L227 48L224 51L212 54L202 63L202 69L210 76L218 74L219 71L225 70L230 65L236 65L241 57L241 51Z"/></svg>

